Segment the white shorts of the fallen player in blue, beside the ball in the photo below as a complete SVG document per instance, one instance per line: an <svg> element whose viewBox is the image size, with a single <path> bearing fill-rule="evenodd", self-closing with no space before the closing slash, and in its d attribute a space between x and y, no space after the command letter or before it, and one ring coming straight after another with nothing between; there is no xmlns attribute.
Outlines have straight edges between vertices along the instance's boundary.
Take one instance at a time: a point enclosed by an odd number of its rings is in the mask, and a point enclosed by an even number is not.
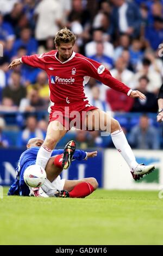
<svg viewBox="0 0 163 256"><path fill-rule="evenodd" d="M53 182L46 179L46 181L41 186L42 190L49 196L54 197L57 190L63 190L65 185L65 179L61 179L60 175L53 180Z"/></svg>

